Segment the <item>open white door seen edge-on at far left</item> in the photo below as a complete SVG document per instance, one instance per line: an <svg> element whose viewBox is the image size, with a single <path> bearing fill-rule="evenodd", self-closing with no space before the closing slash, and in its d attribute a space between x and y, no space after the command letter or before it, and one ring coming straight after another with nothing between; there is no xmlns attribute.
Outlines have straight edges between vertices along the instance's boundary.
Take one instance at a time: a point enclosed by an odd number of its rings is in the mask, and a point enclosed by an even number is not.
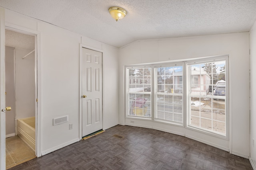
<svg viewBox="0 0 256 170"><path fill-rule="evenodd" d="M4 8L0 7L0 168L5 170L5 20Z"/></svg>

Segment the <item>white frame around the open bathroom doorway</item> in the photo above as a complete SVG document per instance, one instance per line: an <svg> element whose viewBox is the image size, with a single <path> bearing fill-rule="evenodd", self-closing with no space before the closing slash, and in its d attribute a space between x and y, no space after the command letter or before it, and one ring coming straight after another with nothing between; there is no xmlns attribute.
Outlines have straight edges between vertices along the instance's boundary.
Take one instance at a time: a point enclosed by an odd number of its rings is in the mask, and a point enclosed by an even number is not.
<svg viewBox="0 0 256 170"><path fill-rule="evenodd" d="M2 20L2 18L1 18ZM40 157L42 156L42 151L41 151L41 134L42 134L42 123L41 123L41 120L42 120L42 100L41 100L41 34L40 32L36 31L36 30L33 30L33 29L29 29L29 28L26 28L26 27L22 27L22 26L19 26L19 25L15 25L15 24L12 24L12 23L8 23L8 22L5 22L5 26L4 26L4 29L9 29L9 30L12 30L12 31L16 31L16 32L20 32L20 33L25 33L25 34L28 34L28 35L34 35L35 36L35 54L36 54L36 57L35 57L35 77L36 77L36 93L35 93L35 100L38 99L38 102L36 104L36 101L35 101L35 117L36 117L36 156L37 157ZM1 36L1 41L3 41L3 38ZM4 41L5 41L5 37L4 37ZM4 47L5 47L5 44L4 44ZM1 53L2 55L2 53ZM5 55L5 54L4 54ZM1 57L1 59L4 58L4 57ZM2 63L1 63L1 67L2 67ZM2 83L2 82L1 82ZM5 81L4 81L4 84L5 84ZM5 106L4 106L5 107ZM2 107L1 107L2 109ZM2 121L5 121L2 120L2 117L1 117L1 122ZM5 127L4 129L1 128L1 131L5 132ZM2 133L1 133L2 135ZM5 143L5 137L2 138L1 136L1 144L2 142L4 141ZM4 146L5 147L5 146ZM3 158L1 157L1 162L4 161L4 164L5 164L5 157L4 157L4 160L2 160ZM2 164L1 164L2 166Z"/></svg>

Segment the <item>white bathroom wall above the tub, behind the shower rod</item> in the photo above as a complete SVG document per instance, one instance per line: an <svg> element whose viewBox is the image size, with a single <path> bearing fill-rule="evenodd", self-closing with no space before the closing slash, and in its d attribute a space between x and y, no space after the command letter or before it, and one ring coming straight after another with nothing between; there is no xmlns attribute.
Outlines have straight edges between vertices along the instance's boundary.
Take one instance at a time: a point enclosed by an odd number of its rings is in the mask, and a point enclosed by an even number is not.
<svg viewBox="0 0 256 170"><path fill-rule="evenodd" d="M15 48L15 119L35 116L35 53Z"/></svg>

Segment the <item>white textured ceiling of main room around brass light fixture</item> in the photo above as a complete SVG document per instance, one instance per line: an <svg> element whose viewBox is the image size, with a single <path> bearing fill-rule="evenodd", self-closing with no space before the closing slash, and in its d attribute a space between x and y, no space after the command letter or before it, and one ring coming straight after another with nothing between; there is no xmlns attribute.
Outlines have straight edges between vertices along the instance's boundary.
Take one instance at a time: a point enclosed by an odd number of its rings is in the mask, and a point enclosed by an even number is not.
<svg viewBox="0 0 256 170"><path fill-rule="evenodd" d="M0 0L0 6L121 47L137 39L249 31L256 0ZM116 22L108 13L128 14Z"/></svg>

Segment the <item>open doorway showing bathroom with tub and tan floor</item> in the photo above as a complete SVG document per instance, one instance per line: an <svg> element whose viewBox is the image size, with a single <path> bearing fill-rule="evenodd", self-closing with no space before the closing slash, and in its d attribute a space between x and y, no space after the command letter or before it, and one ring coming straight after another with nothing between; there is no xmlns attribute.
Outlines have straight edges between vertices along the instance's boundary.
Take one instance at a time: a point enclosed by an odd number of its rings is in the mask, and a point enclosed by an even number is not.
<svg viewBox="0 0 256 170"><path fill-rule="evenodd" d="M6 29L6 169L36 157L35 36Z"/></svg>

